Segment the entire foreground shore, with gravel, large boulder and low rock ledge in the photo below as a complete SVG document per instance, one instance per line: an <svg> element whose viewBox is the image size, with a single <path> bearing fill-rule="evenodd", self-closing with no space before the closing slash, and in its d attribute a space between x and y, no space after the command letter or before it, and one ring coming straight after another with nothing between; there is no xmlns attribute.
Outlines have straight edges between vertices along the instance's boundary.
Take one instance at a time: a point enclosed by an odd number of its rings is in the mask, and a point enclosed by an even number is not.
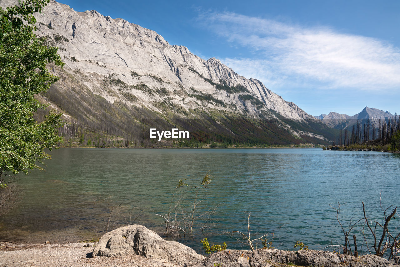
<svg viewBox="0 0 400 267"><path fill-rule="evenodd" d="M142 225L106 233L93 243L64 245L0 243L0 266L132 266L132 267L400 267L399 257L353 257L328 251L279 249L224 250L208 257L181 243L165 241Z"/></svg>

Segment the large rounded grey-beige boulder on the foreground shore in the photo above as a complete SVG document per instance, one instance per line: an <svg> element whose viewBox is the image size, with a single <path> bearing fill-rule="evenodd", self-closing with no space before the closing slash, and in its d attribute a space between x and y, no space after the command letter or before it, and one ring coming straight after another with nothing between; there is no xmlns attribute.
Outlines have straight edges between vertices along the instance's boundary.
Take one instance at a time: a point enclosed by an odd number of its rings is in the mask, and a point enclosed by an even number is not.
<svg viewBox="0 0 400 267"><path fill-rule="evenodd" d="M128 254L162 259L180 265L204 259L204 256L197 254L190 247L175 241L166 241L142 225L129 225L106 233L94 247L92 257Z"/></svg>

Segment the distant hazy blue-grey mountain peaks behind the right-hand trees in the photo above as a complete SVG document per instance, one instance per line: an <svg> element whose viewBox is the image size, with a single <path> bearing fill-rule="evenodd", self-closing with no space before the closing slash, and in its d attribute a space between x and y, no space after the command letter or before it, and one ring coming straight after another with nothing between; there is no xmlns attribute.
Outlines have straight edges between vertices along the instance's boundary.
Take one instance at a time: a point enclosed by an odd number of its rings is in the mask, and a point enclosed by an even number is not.
<svg viewBox="0 0 400 267"><path fill-rule="evenodd" d="M379 110L377 108L368 108L366 106L360 113L355 114L353 116L349 116L347 114L339 114L337 112L329 112L328 115L321 114L319 116L314 116L315 118L321 120L327 126L336 128L336 129L345 129L351 127L357 122L361 124L366 123L366 120L370 120L370 125L376 125L378 127L379 122L385 121L388 123L388 120L394 119L395 115L390 112Z"/></svg>

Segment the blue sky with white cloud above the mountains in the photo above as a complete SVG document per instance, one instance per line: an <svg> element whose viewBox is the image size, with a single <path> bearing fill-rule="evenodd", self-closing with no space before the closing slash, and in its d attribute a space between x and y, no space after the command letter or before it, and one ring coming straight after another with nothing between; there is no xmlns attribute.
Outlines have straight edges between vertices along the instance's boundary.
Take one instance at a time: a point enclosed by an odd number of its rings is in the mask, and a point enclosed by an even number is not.
<svg viewBox="0 0 400 267"><path fill-rule="evenodd" d="M308 114L400 113L400 1L60 0L218 58Z"/></svg>

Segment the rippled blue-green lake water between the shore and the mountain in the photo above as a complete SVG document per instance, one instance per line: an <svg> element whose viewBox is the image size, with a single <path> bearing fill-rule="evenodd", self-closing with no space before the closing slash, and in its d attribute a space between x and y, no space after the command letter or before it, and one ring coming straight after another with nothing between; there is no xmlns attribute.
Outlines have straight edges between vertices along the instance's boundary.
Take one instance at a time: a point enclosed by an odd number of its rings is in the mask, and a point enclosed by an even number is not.
<svg viewBox="0 0 400 267"><path fill-rule="evenodd" d="M59 149L52 151L46 171L21 177L22 200L0 229L1 240L76 241L96 238L109 228L136 223L162 234L178 180L197 185L214 177L199 211L220 203L212 217L210 243L240 243L226 231L274 233L273 245L293 248L300 240L313 249L342 242L340 216L362 217L362 204L372 219L382 206L400 204L400 155L322 149ZM185 180L184 180L185 181ZM183 188L190 190L190 187ZM193 196L193 194L192 194ZM192 198L184 196L188 205ZM130 213L130 215L129 215ZM97 234L96 234L97 233ZM180 241L198 249L203 237ZM271 236L271 235L270 235ZM269 236L269 237L270 237ZM358 237L359 239L361 237Z"/></svg>

